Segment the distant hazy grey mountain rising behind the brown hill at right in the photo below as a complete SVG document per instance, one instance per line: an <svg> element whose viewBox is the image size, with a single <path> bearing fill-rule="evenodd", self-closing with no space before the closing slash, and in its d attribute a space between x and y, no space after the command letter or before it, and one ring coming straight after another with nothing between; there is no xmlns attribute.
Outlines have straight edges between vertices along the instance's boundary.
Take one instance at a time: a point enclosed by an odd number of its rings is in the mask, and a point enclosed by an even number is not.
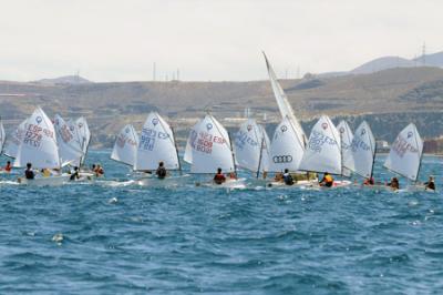
<svg viewBox="0 0 443 295"><path fill-rule="evenodd" d="M414 67L415 62L410 61L400 57L383 57L379 59L374 59L367 63L357 67L356 69L351 70L351 74L365 74L365 73L373 73L379 72L388 69L393 68L410 68Z"/></svg>

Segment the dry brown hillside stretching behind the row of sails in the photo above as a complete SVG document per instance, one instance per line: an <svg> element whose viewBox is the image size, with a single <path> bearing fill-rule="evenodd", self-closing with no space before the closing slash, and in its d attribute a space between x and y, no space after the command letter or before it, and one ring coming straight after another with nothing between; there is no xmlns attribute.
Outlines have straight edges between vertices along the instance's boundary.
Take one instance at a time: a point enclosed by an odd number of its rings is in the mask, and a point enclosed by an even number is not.
<svg viewBox="0 0 443 295"><path fill-rule="evenodd" d="M281 80L297 115L309 128L320 113L362 118L375 136L392 140L409 121L424 136L443 134L443 70L399 68L370 74ZM128 122L141 129L151 110L159 111L186 138L189 126L210 109L228 126L237 126L245 108L257 118L267 114L268 131L280 118L269 81L250 82L122 82L45 84L0 82L0 115L10 132L41 105L50 116L84 115L93 144L110 146L114 134ZM234 118L234 119L233 119ZM237 119L236 119L237 118ZM353 124L353 126L356 126ZM432 128L430 128L432 126ZM306 129L309 133L308 129Z"/></svg>

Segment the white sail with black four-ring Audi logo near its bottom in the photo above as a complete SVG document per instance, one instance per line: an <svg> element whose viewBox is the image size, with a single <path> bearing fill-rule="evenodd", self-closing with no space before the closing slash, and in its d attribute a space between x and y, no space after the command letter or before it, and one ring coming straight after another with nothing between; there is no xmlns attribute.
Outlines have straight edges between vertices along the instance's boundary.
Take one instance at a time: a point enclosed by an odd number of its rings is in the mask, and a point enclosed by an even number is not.
<svg viewBox="0 0 443 295"><path fill-rule="evenodd" d="M274 132L270 144L269 171L282 172L298 171L305 149L298 140L297 130L293 129L288 116L285 116L281 123Z"/></svg>

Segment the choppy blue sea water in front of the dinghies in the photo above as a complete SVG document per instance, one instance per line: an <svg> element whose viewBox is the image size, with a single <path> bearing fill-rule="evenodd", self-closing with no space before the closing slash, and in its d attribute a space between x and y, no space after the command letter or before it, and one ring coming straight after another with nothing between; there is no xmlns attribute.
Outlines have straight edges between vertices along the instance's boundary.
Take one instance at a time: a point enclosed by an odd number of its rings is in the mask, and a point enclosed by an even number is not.
<svg viewBox="0 0 443 295"><path fill-rule="evenodd" d="M90 153L95 184L0 175L1 294L443 292L442 193L150 189L109 153Z"/></svg>

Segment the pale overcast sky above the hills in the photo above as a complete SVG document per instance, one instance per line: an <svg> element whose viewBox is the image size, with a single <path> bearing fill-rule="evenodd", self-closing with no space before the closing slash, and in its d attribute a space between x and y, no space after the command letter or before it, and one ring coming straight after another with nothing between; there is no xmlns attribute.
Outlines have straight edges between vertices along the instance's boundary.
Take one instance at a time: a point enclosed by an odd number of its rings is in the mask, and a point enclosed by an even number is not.
<svg viewBox="0 0 443 295"><path fill-rule="evenodd" d="M443 51L441 0L0 0L0 80L250 81Z"/></svg>

